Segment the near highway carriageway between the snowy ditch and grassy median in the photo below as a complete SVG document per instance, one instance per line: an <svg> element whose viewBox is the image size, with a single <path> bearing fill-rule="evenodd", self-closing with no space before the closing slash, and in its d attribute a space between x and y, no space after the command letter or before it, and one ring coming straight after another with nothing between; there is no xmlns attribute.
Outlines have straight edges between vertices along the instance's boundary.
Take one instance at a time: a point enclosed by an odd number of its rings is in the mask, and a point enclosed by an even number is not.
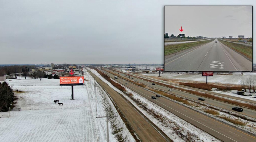
<svg viewBox="0 0 256 142"><path fill-rule="evenodd" d="M114 75L111 75L110 73L108 73L107 75L114 79ZM167 111L177 115L183 120L193 124L194 126L197 126L198 128L206 131L207 133L215 136L218 139L221 139L224 142L256 141L256 137L253 135L250 135L234 127L228 126L227 124L224 124L221 121L214 120L213 118L207 117L206 115L200 114L192 109L186 108L182 105L179 105L178 103L174 103L166 99L165 97L160 97L155 100L151 99L151 96L155 96L154 93L147 91L142 87L134 85L131 82L125 84L127 81L123 81L123 79L120 77L117 78L118 79L114 80L116 80L120 84L130 88L131 90L140 94L141 96L145 97L151 102L154 102L155 104L161 106Z"/></svg>

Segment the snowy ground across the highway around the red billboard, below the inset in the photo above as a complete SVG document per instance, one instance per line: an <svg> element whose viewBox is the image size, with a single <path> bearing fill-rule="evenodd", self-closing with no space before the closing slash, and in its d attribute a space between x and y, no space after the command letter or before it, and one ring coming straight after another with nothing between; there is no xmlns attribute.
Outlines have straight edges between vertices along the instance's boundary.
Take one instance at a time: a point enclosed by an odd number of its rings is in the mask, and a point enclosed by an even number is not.
<svg viewBox="0 0 256 142"><path fill-rule="evenodd" d="M252 72L244 72L244 75L213 75L207 77L207 82L214 82L214 83L228 83L228 84L240 84L241 77L244 78L251 78L256 77L256 73ZM142 74L146 76L158 76L159 74ZM169 79L183 79L188 81L202 81L206 82L206 76L202 75L183 75L183 74L162 74L160 76L163 78Z"/></svg>

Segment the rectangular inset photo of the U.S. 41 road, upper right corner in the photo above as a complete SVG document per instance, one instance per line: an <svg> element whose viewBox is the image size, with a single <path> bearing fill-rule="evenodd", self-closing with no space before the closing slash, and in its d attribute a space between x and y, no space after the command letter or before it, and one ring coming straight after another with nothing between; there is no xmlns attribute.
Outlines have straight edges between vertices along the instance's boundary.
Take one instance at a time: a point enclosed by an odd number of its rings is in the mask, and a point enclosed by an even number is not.
<svg viewBox="0 0 256 142"><path fill-rule="evenodd" d="M252 71L253 6L165 6L165 71Z"/></svg>

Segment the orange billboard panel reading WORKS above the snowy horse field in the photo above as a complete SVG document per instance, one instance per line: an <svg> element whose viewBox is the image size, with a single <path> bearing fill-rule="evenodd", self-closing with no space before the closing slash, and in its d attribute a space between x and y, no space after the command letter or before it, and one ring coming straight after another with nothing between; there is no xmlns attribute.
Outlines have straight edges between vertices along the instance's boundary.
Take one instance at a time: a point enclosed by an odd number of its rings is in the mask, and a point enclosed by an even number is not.
<svg viewBox="0 0 256 142"><path fill-rule="evenodd" d="M64 76L59 78L59 86L84 85L84 76Z"/></svg>

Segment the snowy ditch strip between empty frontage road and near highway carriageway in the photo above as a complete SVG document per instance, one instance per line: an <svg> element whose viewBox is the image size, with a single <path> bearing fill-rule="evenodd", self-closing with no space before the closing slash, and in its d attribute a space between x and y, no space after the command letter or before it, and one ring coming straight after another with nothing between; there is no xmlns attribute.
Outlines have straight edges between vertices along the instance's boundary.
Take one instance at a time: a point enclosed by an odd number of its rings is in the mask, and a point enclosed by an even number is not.
<svg viewBox="0 0 256 142"><path fill-rule="evenodd" d="M159 120L157 120L155 117L153 117L151 114L149 114L147 111L144 109L140 108L136 102L131 100L128 96L126 96L122 91L118 90L115 88L113 85L110 84L107 80L105 80L96 70L90 69L91 72L93 72L95 75L97 75L102 81L107 83L111 88L116 90L118 93L122 94L123 96L126 97L131 103L133 103L134 106L136 106L137 109L139 109L146 117L149 118L154 124L157 125L166 135L169 136L174 142L184 142L184 140L178 136L174 130L174 128L181 129L180 131L183 135L187 135L187 133L190 133L195 136L195 141L198 142L219 142L219 139L214 138L213 136L209 135L208 133L204 132L201 129L198 129L197 127L193 126L190 123L187 123L184 120L181 120L179 117L176 115L166 111L165 109L159 109L160 106L152 103L148 99L145 99L144 97L140 96L139 94L135 93L134 91L130 90L129 88L125 87L126 91L128 93L132 93L133 97L141 102L144 103L144 105L150 109L154 110L158 115L162 115L165 119L166 123L162 123ZM113 79L112 79L113 80ZM115 80L113 80L115 81ZM116 81L115 81L116 82ZM159 111L160 110L160 111Z"/></svg>

